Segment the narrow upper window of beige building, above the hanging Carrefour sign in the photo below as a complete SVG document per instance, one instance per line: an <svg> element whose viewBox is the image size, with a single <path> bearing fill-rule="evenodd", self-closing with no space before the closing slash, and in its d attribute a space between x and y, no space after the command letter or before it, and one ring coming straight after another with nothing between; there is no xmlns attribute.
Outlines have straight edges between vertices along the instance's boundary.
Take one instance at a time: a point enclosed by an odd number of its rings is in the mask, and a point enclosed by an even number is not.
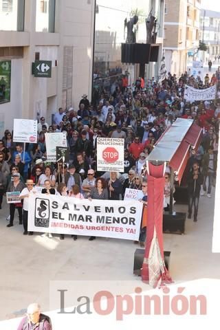
<svg viewBox="0 0 220 330"><path fill-rule="evenodd" d="M36 0L36 32L54 32L55 0Z"/></svg>

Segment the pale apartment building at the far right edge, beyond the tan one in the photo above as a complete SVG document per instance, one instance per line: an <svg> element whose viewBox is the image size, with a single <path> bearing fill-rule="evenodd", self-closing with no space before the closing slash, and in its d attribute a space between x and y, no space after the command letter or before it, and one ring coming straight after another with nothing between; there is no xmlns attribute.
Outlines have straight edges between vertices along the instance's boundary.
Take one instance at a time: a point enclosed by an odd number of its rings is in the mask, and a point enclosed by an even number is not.
<svg viewBox="0 0 220 330"><path fill-rule="evenodd" d="M219 63L216 57L220 55L220 12L201 9L200 39L208 47L206 52L200 52L201 60Z"/></svg>

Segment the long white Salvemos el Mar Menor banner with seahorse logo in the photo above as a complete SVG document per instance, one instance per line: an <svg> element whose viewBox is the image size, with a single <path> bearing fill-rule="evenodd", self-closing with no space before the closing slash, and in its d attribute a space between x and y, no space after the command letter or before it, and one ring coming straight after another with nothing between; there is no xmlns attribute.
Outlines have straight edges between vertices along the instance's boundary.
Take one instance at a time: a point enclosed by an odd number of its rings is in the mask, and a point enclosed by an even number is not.
<svg viewBox="0 0 220 330"><path fill-rule="evenodd" d="M29 197L28 230L102 236L138 241L142 203L75 199L36 194Z"/></svg>

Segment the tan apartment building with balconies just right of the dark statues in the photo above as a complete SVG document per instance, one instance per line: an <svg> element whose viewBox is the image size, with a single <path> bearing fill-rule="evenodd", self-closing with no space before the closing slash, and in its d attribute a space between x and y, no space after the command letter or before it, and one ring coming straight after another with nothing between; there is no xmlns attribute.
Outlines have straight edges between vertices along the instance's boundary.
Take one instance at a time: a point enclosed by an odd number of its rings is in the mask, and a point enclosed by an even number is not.
<svg viewBox="0 0 220 330"><path fill-rule="evenodd" d="M166 67L178 76L199 46L201 0L166 0L164 10L164 50Z"/></svg>

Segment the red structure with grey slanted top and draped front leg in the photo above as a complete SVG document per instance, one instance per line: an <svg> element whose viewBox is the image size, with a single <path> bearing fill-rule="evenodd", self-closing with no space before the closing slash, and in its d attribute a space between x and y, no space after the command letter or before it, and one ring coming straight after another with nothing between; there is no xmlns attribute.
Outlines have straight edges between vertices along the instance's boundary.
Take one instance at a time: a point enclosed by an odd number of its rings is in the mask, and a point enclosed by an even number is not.
<svg viewBox="0 0 220 330"><path fill-rule="evenodd" d="M171 168L171 184L172 173L177 175L180 182L190 157L190 148L196 151L201 137L202 129L194 124L193 120L178 118L166 129L146 159L148 168L148 230L142 266L142 281L149 283L152 287L172 282L164 263L162 231L166 164ZM173 197L173 194L170 195Z"/></svg>

